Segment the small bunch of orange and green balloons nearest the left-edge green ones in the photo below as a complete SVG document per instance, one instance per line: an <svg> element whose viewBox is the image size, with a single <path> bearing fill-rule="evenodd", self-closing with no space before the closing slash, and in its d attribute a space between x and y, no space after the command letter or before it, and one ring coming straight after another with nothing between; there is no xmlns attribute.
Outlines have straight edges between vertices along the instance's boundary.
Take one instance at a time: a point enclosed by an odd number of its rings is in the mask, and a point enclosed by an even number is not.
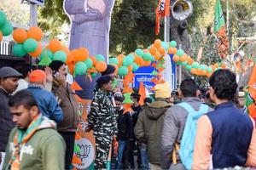
<svg viewBox="0 0 256 170"><path fill-rule="evenodd" d="M24 57L30 54L38 57L42 51L42 44L39 42L43 37L43 31L38 27L31 27L28 31L18 28L13 32L13 38L17 42L13 48L15 56Z"/></svg>

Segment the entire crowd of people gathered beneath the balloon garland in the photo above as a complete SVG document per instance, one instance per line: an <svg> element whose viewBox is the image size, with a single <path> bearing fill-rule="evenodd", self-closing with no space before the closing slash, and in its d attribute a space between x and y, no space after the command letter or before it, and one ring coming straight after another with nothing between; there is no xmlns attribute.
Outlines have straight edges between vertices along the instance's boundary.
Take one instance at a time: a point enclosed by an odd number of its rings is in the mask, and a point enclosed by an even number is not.
<svg viewBox="0 0 256 170"><path fill-rule="evenodd" d="M115 68L108 65L96 80L88 126L96 139L95 169L212 169L256 167L256 132L243 112L245 93L236 75L218 70L210 87L185 79L177 91L156 84L140 105L133 89L131 109ZM72 169L78 103L66 82L67 65L20 64L0 69L0 161L7 169ZM137 162L136 162L137 161Z"/></svg>

